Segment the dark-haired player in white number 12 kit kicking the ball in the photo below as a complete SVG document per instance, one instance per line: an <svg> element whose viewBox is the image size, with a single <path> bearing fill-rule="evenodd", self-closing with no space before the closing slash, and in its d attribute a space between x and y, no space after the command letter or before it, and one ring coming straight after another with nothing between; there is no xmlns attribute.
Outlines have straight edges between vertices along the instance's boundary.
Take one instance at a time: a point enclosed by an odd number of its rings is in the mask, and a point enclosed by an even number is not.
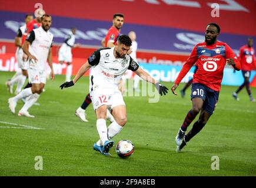
<svg viewBox="0 0 256 188"><path fill-rule="evenodd" d="M79 69L75 78L60 86L61 89L73 86L92 67L89 92L97 116L96 126L100 138L94 143L94 150L102 155L110 155L109 149L114 145L114 141L110 139L117 135L127 123L125 103L122 93L118 90L118 82L127 69L135 71L141 78L153 83L161 95L166 95L168 90L141 69L137 62L127 54L131 44L129 36L119 36L114 47L95 51ZM108 108L111 108L115 120L107 127Z"/></svg>

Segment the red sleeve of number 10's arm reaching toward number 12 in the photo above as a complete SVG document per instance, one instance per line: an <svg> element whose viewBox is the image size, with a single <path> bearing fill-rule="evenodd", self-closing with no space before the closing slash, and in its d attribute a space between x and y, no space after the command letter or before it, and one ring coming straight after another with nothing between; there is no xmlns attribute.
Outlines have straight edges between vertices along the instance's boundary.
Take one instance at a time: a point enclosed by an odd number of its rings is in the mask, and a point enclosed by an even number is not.
<svg viewBox="0 0 256 188"><path fill-rule="evenodd" d="M197 46L195 46L191 52L191 55L189 56L187 62L184 63L182 66L181 72L179 72L179 75L174 83L179 84L181 80L187 75L188 70L191 69L191 67L194 65L195 62L197 62Z"/></svg>

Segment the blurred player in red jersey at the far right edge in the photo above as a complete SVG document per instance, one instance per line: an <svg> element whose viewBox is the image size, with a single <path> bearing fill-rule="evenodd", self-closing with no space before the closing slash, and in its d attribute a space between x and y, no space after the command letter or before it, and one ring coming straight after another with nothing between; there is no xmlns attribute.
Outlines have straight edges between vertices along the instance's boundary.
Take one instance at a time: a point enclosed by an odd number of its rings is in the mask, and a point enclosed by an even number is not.
<svg viewBox="0 0 256 188"><path fill-rule="evenodd" d="M237 89L236 92L233 93L233 97L235 100L239 100L237 94L244 88L246 87L247 93L250 97L251 102L255 102L255 99L252 97L251 89L250 89L250 75L251 75L251 70L254 69L254 63L255 63L255 50L252 47L253 45L253 39L248 38L247 45L244 45L240 48L240 63L241 63L241 70L242 70L242 76L244 76L244 83Z"/></svg>

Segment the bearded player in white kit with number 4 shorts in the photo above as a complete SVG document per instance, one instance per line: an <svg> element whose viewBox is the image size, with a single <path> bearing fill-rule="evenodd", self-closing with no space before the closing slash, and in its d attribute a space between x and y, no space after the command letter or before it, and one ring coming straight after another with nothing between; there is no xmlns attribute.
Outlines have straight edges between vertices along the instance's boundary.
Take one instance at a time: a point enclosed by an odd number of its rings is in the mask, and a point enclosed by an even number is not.
<svg viewBox="0 0 256 188"><path fill-rule="evenodd" d="M24 106L19 110L19 116L35 117L28 113L28 109L38 100L46 83L46 61L48 59L51 68L51 79L54 80L54 70L52 68L52 41L54 35L49 32L52 24L50 15L42 16L42 26L33 29L29 33L22 46L22 49L29 58L28 79L32 83L32 88L26 88L21 91L14 98L9 98L9 109L15 113L15 107L19 99L29 98L26 100Z"/></svg>

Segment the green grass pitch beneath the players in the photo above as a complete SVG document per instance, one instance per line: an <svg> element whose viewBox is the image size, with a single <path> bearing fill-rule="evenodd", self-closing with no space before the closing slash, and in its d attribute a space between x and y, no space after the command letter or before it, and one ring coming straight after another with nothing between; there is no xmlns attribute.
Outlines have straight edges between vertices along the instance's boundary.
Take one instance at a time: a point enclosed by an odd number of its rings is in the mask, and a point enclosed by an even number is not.
<svg viewBox="0 0 256 188"><path fill-rule="evenodd" d="M38 100L41 105L29 109L36 116L33 119L17 115L22 102L15 115L8 108L7 100L12 95L5 81L13 74L0 72L0 176L256 175L256 103L249 101L245 89L237 102L231 97L237 87L222 86L214 115L181 153L175 152L175 136L191 109L190 89L182 99L172 95L172 83L164 83L169 94L158 103L148 103L147 97L125 97L128 122L114 141L131 140L135 152L121 159L114 148L111 157L92 149L98 140L92 106L87 109L88 123L74 115L88 93L88 77L64 90L59 85L65 76L56 76L54 82L48 80L46 92ZM256 88L252 93L256 96ZM35 170L36 156L42 156L42 170ZM211 169L212 156L219 157L220 170Z"/></svg>

